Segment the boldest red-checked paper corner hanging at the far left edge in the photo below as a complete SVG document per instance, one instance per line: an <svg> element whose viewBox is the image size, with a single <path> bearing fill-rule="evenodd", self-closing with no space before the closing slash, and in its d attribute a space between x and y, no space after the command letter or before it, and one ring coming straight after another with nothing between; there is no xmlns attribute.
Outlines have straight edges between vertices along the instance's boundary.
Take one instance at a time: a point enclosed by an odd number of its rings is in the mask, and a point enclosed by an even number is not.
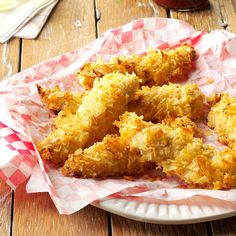
<svg viewBox="0 0 236 236"><path fill-rule="evenodd" d="M35 149L20 133L0 122L0 178L15 189L37 164Z"/></svg>

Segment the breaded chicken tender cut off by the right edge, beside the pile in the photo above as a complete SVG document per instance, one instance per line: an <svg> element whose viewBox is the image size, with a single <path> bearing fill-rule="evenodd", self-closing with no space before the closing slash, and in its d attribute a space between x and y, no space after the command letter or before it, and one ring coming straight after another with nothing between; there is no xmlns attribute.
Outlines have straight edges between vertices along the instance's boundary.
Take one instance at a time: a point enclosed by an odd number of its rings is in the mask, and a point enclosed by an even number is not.
<svg viewBox="0 0 236 236"><path fill-rule="evenodd" d="M219 135L219 141L236 147L236 98L229 94L216 97L216 103L208 114L208 125Z"/></svg>

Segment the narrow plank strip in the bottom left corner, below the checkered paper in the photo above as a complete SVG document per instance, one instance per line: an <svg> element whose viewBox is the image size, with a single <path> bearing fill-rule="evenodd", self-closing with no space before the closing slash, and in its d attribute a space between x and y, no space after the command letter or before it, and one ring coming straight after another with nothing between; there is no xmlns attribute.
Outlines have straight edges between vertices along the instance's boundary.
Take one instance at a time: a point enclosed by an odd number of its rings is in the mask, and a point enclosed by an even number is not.
<svg viewBox="0 0 236 236"><path fill-rule="evenodd" d="M10 235L12 190L0 179L0 235Z"/></svg>

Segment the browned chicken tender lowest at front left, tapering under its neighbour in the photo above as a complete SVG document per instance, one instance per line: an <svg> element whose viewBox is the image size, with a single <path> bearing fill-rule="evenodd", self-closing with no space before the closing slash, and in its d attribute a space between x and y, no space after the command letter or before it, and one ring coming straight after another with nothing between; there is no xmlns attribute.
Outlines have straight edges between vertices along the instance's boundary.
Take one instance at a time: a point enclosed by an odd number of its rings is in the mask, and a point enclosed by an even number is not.
<svg viewBox="0 0 236 236"><path fill-rule="evenodd" d="M118 136L107 135L102 142L71 154L62 173L84 178L140 176L154 167L153 162L143 161L139 152L126 148Z"/></svg>

